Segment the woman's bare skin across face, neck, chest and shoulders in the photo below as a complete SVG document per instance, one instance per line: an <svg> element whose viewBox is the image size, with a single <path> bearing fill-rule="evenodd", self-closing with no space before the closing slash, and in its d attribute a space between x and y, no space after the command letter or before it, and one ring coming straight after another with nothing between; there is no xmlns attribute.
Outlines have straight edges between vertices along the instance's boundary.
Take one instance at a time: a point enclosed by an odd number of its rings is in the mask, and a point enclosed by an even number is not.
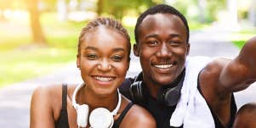
<svg viewBox="0 0 256 128"><path fill-rule="evenodd" d="M109 45L105 45L107 42ZM77 55L77 67L82 80L86 81L77 92L77 103L88 104L89 112L96 108L112 111L117 106L117 87L125 79L128 70L128 40L117 31L105 26L90 31L81 44ZM68 123L77 127L77 112L71 97L76 85L69 85L67 91ZM130 101L122 97L121 107L113 118L117 120ZM31 128L54 128L60 118L62 107L62 86L38 87L31 97ZM124 116L120 128L156 127L151 114L139 105L134 105ZM89 127L89 125L87 125Z"/></svg>

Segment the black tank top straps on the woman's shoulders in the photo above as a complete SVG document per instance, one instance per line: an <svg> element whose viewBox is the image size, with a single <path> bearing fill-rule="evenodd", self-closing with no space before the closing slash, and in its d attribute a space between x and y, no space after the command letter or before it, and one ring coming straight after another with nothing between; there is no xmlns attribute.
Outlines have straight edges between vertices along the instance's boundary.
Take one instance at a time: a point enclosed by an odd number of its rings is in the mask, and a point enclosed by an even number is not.
<svg viewBox="0 0 256 128"><path fill-rule="evenodd" d="M67 85L63 84L62 85L62 108L60 110L60 117L55 122L55 128L69 128L68 116L67 116L67 110L66 110L66 95L67 95ZM114 125L112 126L112 128L119 127L125 114L128 113L128 110L131 109L133 105L134 103L132 102L128 103L126 108L123 109L122 114L120 114L119 118L114 122Z"/></svg>

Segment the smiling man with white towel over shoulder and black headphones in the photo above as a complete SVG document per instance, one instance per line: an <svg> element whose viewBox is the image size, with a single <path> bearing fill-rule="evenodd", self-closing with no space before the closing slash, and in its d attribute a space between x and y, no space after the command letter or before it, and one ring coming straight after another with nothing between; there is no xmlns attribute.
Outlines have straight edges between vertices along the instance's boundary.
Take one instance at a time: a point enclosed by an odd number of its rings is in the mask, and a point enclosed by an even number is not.
<svg viewBox="0 0 256 128"><path fill-rule="evenodd" d="M157 127L225 128L233 124L233 92L256 80L256 37L233 60L188 58L189 27L173 7L160 4L140 14L134 54L142 72L121 92L148 109Z"/></svg>

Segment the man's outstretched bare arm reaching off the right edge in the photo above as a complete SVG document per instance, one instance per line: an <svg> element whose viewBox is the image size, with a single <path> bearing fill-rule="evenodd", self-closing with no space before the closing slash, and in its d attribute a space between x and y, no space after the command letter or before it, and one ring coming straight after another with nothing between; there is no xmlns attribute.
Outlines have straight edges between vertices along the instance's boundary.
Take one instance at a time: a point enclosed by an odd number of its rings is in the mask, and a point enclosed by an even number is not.
<svg viewBox="0 0 256 128"><path fill-rule="evenodd" d="M241 91L256 81L256 36L248 40L239 55L225 64L219 83L230 92Z"/></svg>

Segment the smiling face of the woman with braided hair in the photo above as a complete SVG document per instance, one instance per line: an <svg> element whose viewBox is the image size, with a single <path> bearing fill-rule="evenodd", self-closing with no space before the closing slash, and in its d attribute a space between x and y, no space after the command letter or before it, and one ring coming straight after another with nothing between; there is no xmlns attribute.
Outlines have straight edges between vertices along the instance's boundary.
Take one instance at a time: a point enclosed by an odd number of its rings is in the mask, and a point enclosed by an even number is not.
<svg viewBox="0 0 256 128"><path fill-rule="evenodd" d="M116 92L128 66L128 40L103 25L86 34L77 56L82 80L96 94Z"/></svg>

